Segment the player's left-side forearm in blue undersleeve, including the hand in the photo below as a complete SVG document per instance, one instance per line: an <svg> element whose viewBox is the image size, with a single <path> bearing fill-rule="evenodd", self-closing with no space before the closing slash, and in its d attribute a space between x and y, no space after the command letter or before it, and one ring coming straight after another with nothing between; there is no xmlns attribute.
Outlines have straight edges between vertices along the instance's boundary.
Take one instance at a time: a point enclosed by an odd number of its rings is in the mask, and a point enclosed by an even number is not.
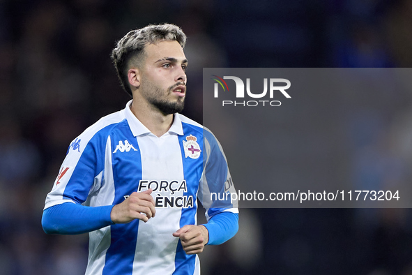
<svg viewBox="0 0 412 275"><path fill-rule="evenodd" d="M155 216L151 189L132 193L119 205L86 207L71 202L43 211L42 225L47 234L75 235L104 228L114 223L129 223L135 218L146 222Z"/></svg>

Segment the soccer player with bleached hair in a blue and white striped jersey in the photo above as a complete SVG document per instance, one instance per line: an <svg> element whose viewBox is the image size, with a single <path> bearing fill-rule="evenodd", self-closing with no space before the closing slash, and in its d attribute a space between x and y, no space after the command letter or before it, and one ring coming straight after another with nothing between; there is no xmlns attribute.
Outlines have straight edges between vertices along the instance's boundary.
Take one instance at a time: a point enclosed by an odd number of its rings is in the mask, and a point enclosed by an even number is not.
<svg viewBox="0 0 412 275"><path fill-rule="evenodd" d="M198 253L238 230L226 158L208 129L179 114L186 36L173 24L130 31L112 59L132 100L68 148L42 225L89 232L86 274L199 274ZM208 222L197 225L197 198Z"/></svg>

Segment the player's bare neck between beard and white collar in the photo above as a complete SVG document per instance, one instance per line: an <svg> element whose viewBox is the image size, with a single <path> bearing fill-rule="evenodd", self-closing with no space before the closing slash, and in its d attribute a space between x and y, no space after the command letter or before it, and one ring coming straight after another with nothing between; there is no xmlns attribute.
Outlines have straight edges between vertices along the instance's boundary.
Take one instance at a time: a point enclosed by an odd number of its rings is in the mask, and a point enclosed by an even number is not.
<svg viewBox="0 0 412 275"><path fill-rule="evenodd" d="M162 114L155 107L142 101L133 100L130 110L153 135L158 137L167 133L171 124L173 124L173 114Z"/></svg>

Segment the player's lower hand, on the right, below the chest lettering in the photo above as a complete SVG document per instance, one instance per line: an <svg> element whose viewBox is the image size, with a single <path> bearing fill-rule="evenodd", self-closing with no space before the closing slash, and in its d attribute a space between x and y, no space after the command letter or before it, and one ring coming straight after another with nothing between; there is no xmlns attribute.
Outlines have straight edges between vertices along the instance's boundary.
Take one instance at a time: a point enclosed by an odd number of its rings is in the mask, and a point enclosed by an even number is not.
<svg viewBox="0 0 412 275"><path fill-rule="evenodd" d="M209 232L203 225L185 225L173 235L181 239L186 254L201 253L209 240Z"/></svg>

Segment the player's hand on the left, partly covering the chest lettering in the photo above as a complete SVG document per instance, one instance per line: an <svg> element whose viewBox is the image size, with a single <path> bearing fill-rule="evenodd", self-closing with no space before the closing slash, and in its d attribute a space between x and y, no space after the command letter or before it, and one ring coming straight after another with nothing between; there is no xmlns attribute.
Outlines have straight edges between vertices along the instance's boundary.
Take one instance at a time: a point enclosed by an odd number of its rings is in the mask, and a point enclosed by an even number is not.
<svg viewBox="0 0 412 275"><path fill-rule="evenodd" d="M155 201L148 189L142 193L133 192L124 202L115 205L110 213L110 218L114 223L130 223L130 221L139 218L146 223L149 218L154 217Z"/></svg>

